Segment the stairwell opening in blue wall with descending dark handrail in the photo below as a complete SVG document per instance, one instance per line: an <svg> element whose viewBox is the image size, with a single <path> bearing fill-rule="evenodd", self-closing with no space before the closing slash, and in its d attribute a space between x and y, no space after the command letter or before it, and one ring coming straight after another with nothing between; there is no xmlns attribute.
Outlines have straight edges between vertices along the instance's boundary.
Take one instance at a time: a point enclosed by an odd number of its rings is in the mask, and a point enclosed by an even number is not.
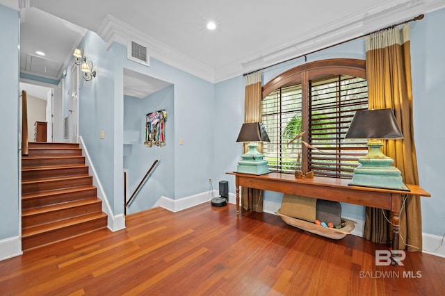
<svg viewBox="0 0 445 296"><path fill-rule="evenodd" d="M175 175L175 88L168 81L131 69L124 68L123 74L124 203L127 204L129 198L134 197L126 213L136 213L152 208L161 196L175 196L172 178ZM165 111L165 145L147 146L147 113L159 110ZM149 173L151 167L154 170ZM144 177L147 174L149 179ZM144 195L144 198L138 198L138 195Z"/></svg>

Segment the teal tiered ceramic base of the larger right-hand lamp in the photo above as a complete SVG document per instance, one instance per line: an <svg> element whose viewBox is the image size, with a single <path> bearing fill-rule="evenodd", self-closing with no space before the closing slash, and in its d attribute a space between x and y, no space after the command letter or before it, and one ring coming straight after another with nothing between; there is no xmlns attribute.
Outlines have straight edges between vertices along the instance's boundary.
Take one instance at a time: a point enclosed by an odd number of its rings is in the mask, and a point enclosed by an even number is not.
<svg viewBox="0 0 445 296"><path fill-rule="evenodd" d="M394 161L380 151L382 145L380 140L369 141L369 152L359 159L361 165L355 168L349 185L409 191L403 183L401 171L391 166Z"/></svg>

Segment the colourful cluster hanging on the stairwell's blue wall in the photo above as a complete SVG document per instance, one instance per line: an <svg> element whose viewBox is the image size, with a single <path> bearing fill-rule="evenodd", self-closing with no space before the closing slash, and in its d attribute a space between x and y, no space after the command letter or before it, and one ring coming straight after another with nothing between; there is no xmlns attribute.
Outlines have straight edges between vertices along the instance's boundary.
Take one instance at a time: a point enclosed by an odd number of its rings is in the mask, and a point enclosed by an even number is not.
<svg viewBox="0 0 445 296"><path fill-rule="evenodd" d="M167 112L159 110L147 113L145 123L145 146L162 147L165 145L165 120Z"/></svg>

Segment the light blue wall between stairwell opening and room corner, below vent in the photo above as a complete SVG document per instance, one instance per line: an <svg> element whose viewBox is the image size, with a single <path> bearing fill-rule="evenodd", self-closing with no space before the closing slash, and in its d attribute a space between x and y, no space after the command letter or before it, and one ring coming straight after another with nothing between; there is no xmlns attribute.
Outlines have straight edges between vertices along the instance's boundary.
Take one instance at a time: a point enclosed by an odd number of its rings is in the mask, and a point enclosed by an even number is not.
<svg viewBox="0 0 445 296"><path fill-rule="evenodd" d="M213 172L214 85L159 60L150 58L150 67L127 59L126 49L115 44L121 54L122 67L140 72L174 85L175 102L175 197L188 197L206 192L207 180ZM116 81L116 83L118 83ZM122 84L121 84L122 85ZM179 145L179 138L184 145Z"/></svg>

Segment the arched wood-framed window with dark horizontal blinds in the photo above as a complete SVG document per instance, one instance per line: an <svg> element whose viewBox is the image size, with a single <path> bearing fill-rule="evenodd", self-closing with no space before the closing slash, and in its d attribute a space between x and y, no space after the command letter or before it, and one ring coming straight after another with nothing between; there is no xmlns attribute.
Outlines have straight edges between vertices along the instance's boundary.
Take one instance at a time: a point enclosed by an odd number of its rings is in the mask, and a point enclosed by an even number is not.
<svg viewBox="0 0 445 296"><path fill-rule="evenodd" d="M367 147L365 141L345 140L344 135L355 112L367 108L364 60L318 60L275 77L264 85L262 101L270 138L263 153L270 170L352 177ZM300 133L301 138L288 144Z"/></svg>

